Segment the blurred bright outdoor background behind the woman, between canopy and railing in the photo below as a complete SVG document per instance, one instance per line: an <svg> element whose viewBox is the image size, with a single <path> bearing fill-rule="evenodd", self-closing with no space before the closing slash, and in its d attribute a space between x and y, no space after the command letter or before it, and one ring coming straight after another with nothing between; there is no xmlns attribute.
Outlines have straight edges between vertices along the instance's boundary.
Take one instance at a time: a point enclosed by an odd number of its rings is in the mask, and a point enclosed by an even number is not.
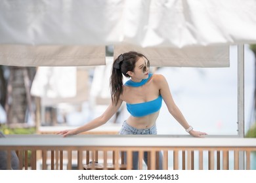
<svg viewBox="0 0 256 183"><path fill-rule="evenodd" d="M245 134L255 132L255 45L245 44ZM186 120L209 135L238 133L237 47L230 46L230 67L151 67L164 75ZM106 46L106 65L85 67L14 67L0 65L1 131L55 133L86 124L110 103L113 47ZM127 79L127 78L125 78ZM124 79L124 80L125 80ZM125 81L124 81L125 82ZM123 104L98 133L117 133L129 114ZM158 134L182 135L184 129L163 103Z"/></svg>

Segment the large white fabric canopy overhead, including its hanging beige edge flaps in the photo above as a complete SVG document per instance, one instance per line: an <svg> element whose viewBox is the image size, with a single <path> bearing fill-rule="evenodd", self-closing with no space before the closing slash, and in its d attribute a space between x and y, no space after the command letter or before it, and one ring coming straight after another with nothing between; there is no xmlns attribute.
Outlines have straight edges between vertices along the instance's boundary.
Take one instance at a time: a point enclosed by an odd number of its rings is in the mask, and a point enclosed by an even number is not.
<svg viewBox="0 0 256 183"><path fill-rule="evenodd" d="M226 67L230 44L256 42L255 12L255 0L3 0L0 64L102 65L114 45L156 66Z"/></svg>

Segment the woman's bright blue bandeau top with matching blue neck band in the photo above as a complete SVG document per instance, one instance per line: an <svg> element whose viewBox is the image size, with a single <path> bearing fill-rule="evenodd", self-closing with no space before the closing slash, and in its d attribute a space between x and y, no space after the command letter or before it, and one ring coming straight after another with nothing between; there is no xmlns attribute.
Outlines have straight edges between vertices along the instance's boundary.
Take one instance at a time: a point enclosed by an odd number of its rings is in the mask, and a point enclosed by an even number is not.
<svg viewBox="0 0 256 183"><path fill-rule="evenodd" d="M132 87L142 86L146 84L146 82L148 82L148 80L151 78L152 75L153 74L150 73L148 75L148 78L140 82L133 82L132 80L128 80L127 82L125 82L125 86L132 86ZM160 110L161 108L161 102L162 102L162 97L161 95L159 95L158 98L154 99L153 101L147 101L144 103L135 103L135 104L126 103L126 107L128 112L132 116L142 117L142 116L152 114L154 112L158 112L158 110Z"/></svg>

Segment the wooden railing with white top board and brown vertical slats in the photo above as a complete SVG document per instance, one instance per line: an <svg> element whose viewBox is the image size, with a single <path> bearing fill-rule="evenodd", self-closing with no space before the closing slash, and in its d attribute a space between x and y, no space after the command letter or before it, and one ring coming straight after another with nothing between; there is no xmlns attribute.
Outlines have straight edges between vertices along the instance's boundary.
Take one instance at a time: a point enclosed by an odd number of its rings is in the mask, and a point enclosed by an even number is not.
<svg viewBox="0 0 256 183"><path fill-rule="evenodd" d="M7 169L12 169L12 151L20 169L132 169L133 152L139 152L139 169L158 169L159 152L163 169L251 169L256 161L256 139L238 137L7 135L0 138L0 150L7 152ZM149 152L148 167L144 152Z"/></svg>

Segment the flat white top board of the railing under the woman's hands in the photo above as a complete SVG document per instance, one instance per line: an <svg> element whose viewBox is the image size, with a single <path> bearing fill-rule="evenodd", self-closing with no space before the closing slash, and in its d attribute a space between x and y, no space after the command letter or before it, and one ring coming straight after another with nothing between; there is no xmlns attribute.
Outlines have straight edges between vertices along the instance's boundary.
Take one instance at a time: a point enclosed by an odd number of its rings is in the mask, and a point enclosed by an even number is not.
<svg viewBox="0 0 256 183"><path fill-rule="evenodd" d="M6 135L0 146L175 146L255 147L256 139L239 137L171 137L168 135ZM50 140L49 140L50 139Z"/></svg>

